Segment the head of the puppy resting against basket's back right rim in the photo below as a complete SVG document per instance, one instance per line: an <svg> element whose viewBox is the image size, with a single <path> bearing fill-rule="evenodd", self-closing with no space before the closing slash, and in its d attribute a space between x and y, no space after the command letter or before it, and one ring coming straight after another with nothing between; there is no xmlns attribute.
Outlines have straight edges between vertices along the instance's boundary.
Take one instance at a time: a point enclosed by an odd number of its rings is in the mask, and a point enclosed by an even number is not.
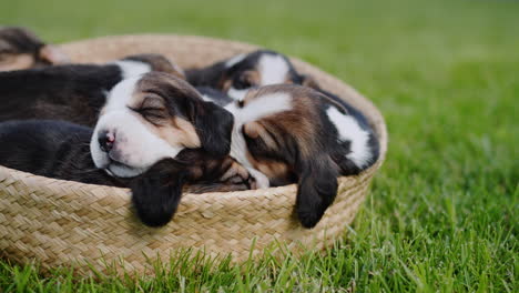
<svg viewBox="0 0 519 293"><path fill-rule="evenodd" d="M236 100L243 99L248 89L256 87L282 83L316 84L309 75L297 73L288 58L269 50L233 57L224 61L222 67L223 74L218 88Z"/></svg>

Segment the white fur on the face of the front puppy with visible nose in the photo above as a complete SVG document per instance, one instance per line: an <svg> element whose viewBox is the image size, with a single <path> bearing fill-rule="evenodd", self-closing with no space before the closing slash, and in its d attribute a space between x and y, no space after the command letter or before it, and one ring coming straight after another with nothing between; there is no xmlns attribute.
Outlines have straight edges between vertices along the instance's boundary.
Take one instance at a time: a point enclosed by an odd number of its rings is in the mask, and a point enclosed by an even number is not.
<svg viewBox="0 0 519 293"><path fill-rule="evenodd" d="M106 107L95 125L90 150L95 166L109 169L116 176L135 176L165 158L174 158L182 145L171 145L153 133L139 114L128 108L141 78L131 78L118 83L108 97ZM100 132L108 131L115 137L112 150L106 153L100 148ZM111 160L119 164L111 165Z"/></svg>

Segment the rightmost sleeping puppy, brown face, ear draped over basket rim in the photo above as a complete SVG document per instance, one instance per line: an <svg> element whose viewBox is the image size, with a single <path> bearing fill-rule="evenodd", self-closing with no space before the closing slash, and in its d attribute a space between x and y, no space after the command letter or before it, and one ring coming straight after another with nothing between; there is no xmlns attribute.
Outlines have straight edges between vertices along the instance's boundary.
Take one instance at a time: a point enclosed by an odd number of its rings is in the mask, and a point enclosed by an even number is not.
<svg viewBox="0 0 519 293"><path fill-rule="evenodd" d="M313 228L333 203L337 176L378 158L378 140L350 105L301 85L252 89L226 107L234 114L231 156L261 188L297 182L296 211Z"/></svg>

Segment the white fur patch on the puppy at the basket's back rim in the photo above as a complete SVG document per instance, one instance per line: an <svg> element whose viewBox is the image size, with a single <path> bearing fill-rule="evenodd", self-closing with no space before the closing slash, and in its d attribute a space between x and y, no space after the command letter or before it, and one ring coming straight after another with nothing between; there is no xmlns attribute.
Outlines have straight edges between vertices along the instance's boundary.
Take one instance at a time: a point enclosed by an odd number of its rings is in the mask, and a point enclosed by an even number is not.
<svg viewBox="0 0 519 293"><path fill-rule="evenodd" d="M281 55L263 54L258 61L260 85L285 83L289 67Z"/></svg>

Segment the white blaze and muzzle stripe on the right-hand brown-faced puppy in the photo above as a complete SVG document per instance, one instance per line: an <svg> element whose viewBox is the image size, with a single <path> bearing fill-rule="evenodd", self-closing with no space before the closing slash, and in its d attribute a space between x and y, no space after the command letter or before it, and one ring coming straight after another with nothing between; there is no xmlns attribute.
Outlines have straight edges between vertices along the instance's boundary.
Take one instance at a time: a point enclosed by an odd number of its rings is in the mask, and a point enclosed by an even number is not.
<svg viewBox="0 0 519 293"><path fill-rule="evenodd" d="M236 103L225 107L234 115L234 128L231 140L231 156L245 166L252 176L256 180L260 189L268 188L268 178L254 169L247 159L247 144L242 133L242 127L245 123L257 121L262 118L292 110L292 97L287 93L273 93L257 97L254 100L240 108Z"/></svg>

